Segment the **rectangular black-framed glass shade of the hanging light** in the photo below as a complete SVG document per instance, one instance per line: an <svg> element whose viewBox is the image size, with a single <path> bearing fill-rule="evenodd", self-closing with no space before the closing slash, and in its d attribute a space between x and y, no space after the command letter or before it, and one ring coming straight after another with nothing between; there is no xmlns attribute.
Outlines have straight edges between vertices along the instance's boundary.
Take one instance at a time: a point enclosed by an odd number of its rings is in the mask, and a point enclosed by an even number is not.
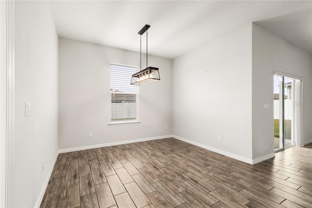
<svg viewBox="0 0 312 208"><path fill-rule="evenodd" d="M158 68L150 66L132 75L131 84L140 85L157 80L160 80Z"/></svg>

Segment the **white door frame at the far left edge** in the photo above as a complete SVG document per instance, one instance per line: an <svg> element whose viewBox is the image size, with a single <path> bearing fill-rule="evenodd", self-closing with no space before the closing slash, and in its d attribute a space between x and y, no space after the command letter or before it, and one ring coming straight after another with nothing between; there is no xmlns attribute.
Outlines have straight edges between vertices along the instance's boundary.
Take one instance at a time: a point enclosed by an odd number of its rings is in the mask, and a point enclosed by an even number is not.
<svg viewBox="0 0 312 208"><path fill-rule="evenodd" d="M14 1L0 1L0 207L11 207L14 150Z"/></svg>

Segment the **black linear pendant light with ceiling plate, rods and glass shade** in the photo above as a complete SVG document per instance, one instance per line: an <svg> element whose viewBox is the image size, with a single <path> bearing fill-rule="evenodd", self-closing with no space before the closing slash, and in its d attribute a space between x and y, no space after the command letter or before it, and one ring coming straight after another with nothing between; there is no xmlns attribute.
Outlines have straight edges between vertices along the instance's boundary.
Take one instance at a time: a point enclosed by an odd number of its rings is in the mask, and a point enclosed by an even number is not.
<svg viewBox="0 0 312 208"><path fill-rule="evenodd" d="M133 74L131 78L131 84L140 85L145 83L151 83L160 80L158 68L149 66L147 67L147 30L151 26L146 24L137 34L140 35L140 71ZM146 69L142 68L142 35L146 32Z"/></svg>

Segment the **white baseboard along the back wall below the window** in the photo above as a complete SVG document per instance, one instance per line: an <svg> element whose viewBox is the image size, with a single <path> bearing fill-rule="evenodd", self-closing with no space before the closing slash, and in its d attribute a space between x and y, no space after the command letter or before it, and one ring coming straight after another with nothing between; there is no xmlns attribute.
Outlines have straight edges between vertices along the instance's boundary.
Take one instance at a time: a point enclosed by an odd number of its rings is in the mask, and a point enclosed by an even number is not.
<svg viewBox="0 0 312 208"><path fill-rule="evenodd" d="M145 141L151 141L151 140L157 140L157 139L166 139L166 138L171 138L171 137L172 135L165 135L165 136L150 137L150 138L144 138L144 139L104 143L104 144L99 144L99 145L78 146L78 147L73 147L73 148L59 149L59 153L75 152L75 151L80 151L80 150L85 150L85 149L94 149L94 148L100 148L100 147L105 147L105 146L125 145L125 144L130 144L130 143L145 142Z"/></svg>

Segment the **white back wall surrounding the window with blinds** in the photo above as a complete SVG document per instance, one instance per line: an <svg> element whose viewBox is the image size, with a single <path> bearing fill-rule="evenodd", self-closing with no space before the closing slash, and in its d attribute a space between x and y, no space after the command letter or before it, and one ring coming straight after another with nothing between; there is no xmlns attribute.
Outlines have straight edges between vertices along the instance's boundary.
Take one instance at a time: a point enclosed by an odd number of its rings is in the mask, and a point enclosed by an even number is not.
<svg viewBox="0 0 312 208"><path fill-rule="evenodd" d="M159 68L161 80L140 86L141 123L120 126L108 126L110 62L139 65L140 56L59 38L59 149L172 134L172 60L149 56L149 66Z"/></svg>

